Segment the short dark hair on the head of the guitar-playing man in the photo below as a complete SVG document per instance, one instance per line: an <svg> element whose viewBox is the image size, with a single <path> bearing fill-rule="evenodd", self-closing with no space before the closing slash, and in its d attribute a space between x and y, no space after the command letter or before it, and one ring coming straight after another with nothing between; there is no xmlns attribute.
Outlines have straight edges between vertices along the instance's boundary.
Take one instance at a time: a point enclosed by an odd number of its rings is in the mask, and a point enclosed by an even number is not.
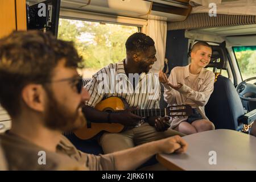
<svg viewBox="0 0 256 182"><path fill-rule="evenodd" d="M129 36L125 43L126 51L128 52L145 52L154 45L154 40L141 32Z"/></svg>

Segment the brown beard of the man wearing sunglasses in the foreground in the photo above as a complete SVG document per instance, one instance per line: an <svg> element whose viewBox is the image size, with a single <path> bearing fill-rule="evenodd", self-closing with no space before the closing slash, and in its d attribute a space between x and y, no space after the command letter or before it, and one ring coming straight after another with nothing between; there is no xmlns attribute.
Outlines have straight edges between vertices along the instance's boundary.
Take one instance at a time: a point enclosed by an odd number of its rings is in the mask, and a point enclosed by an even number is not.
<svg viewBox="0 0 256 182"><path fill-rule="evenodd" d="M80 129L85 125L84 115L79 110L81 105L77 107L74 113L71 113L67 107L56 101L51 91L46 90L48 101L44 115L44 124L48 129L67 132Z"/></svg>

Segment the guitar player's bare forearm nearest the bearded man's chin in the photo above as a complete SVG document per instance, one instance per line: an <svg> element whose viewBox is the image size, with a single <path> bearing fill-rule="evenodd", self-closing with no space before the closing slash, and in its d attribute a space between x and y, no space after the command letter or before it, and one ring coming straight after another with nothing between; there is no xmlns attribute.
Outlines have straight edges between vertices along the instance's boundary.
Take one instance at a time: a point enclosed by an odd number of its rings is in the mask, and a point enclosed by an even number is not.
<svg viewBox="0 0 256 182"><path fill-rule="evenodd" d="M83 106L82 113L84 113L86 119L91 122L106 123L108 122L108 114L104 111L99 111L90 106Z"/></svg>

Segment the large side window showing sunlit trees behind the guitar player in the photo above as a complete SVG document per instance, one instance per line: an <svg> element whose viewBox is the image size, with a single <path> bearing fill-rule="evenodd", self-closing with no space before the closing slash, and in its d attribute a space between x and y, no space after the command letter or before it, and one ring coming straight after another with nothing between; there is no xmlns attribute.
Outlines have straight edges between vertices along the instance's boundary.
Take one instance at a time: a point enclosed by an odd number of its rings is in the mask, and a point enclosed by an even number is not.
<svg viewBox="0 0 256 182"><path fill-rule="evenodd" d="M58 39L75 43L85 65L79 73L92 77L106 65L125 59L125 42L135 32L135 26L60 18Z"/></svg>

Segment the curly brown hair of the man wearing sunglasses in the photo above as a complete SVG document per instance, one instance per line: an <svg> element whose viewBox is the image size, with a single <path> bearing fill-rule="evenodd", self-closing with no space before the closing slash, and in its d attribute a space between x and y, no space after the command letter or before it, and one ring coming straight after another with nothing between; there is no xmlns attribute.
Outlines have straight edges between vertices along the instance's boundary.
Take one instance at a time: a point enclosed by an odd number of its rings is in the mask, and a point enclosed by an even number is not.
<svg viewBox="0 0 256 182"><path fill-rule="evenodd" d="M0 104L11 117L19 114L24 86L50 81L61 59L72 68L82 61L72 42L57 40L51 33L14 31L0 39Z"/></svg>

